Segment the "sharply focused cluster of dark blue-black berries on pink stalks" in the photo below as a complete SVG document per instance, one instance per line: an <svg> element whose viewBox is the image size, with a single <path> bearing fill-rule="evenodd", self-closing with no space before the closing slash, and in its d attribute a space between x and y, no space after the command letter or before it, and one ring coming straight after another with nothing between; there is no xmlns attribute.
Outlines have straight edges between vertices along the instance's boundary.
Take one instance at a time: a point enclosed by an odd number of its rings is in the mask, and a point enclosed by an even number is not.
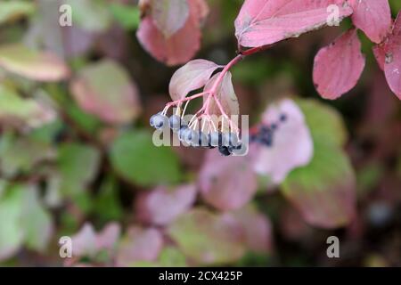
<svg viewBox="0 0 401 285"><path fill-rule="evenodd" d="M192 147L218 148L218 151L224 156L241 155L246 151L244 150L245 145L242 145L237 134L217 131L204 133L201 130L194 130L178 115L168 118L159 113L151 116L150 123L156 129L169 126L173 132L178 134L181 142Z"/></svg>

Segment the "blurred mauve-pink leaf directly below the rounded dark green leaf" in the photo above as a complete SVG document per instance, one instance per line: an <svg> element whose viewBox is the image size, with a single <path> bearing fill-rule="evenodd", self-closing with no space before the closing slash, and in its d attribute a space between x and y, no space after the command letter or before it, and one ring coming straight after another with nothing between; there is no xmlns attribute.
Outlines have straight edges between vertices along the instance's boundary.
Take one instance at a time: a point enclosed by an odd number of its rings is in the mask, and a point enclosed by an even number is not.
<svg viewBox="0 0 401 285"><path fill-rule="evenodd" d="M174 190L160 186L150 192L142 192L136 200L136 216L145 223L166 225L191 208L196 198L192 184Z"/></svg>

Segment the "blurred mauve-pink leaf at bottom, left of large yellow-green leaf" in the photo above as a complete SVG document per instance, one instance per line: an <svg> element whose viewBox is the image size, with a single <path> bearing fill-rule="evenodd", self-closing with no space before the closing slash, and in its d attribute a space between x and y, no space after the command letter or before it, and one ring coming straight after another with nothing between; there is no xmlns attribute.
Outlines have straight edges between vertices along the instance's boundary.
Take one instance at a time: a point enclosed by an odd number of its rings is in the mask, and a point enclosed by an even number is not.
<svg viewBox="0 0 401 285"><path fill-rule="evenodd" d="M117 254L118 266L135 265L135 262L155 261L163 248L163 237L154 228L130 227L120 241Z"/></svg>

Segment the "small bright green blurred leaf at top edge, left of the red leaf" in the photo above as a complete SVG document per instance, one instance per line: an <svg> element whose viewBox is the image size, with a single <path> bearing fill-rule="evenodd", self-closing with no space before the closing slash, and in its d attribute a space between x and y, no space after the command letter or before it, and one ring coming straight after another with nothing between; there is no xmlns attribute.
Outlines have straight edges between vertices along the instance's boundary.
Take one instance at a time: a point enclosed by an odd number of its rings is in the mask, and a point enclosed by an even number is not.
<svg viewBox="0 0 401 285"><path fill-rule="evenodd" d="M121 27L125 29L138 28L141 21L141 12L137 6L112 3L110 4L110 10Z"/></svg>

